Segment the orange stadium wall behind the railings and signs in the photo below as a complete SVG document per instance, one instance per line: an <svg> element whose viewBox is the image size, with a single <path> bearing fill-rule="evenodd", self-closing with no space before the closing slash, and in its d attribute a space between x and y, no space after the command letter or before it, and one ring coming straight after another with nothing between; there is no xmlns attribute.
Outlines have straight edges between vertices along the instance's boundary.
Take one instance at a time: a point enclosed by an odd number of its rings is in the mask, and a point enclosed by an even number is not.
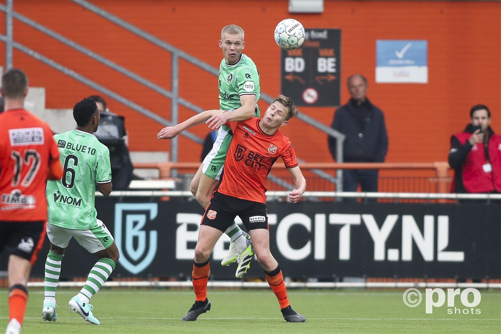
<svg viewBox="0 0 501 334"><path fill-rule="evenodd" d="M5 0L0 1L5 5ZM220 30L237 24L245 30L244 53L253 58L261 74L262 92L280 93L280 49L273 39L275 25L294 17L306 28L341 29L341 102L348 98L346 78L364 74L369 98L386 117L389 133L387 162L445 161L449 137L469 122L469 108L486 104L491 126L501 131L501 3L499 2L393 2L324 1L322 14L290 14L287 0L254 1L91 1L92 4L139 27L180 50L218 67ZM171 89L171 55L115 24L62 0L14 0L14 10L80 45ZM5 35L5 13L0 32ZM72 69L134 103L170 120L170 100L114 72L72 48L14 20L14 38L40 54ZM427 84L376 84L377 40L426 40ZM5 65L5 43L0 43L0 64ZM217 79L180 60L179 95L204 108L218 106ZM14 51L14 66L24 69L33 87L45 87L46 108L72 108L90 94L85 84ZM126 118L132 151L170 151L169 141L157 141L163 127L126 105L104 96L111 111ZM260 102L264 110L267 104ZM180 119L193 112L180 106ZM330 125L334 108L301 108L301 112ZM332 162L325 133L292 121L283 128L307 162ZM192 132L200 137L205 126ZM198 161L201 145L179 139L179 161Z"/></svg>

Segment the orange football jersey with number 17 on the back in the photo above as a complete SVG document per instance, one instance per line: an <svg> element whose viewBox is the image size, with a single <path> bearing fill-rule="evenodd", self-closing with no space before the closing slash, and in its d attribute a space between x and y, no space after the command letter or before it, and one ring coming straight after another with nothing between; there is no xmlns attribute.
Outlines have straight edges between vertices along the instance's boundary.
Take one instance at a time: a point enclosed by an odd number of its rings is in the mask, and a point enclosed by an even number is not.
<svg viewBox="0 0 501 334"><path fill-rule="evenodd" d="M47 220L47 177L51 164L60 164L52 136L49 125L27 110L0 114L0 220Z"/></svg>

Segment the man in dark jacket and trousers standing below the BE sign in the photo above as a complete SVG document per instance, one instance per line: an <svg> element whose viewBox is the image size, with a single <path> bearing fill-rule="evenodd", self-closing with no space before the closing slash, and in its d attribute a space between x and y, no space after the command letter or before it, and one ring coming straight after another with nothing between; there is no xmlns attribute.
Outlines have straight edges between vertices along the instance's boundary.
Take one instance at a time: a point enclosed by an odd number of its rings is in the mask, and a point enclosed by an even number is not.
<svg viewBox="0 0 501 334"><path fill-rule="evenodd" d="M331 125L346 136L343 162L384 162L388 134L383 112L366 97L367 79L360 74L352 75L348 78L348 90L351 99L336 110ZM329 136L328 143L329 151L336 159L336 138ZM343 170L343 191L357 191L358 184L364 192L377 192L378 170Z"/></svg>

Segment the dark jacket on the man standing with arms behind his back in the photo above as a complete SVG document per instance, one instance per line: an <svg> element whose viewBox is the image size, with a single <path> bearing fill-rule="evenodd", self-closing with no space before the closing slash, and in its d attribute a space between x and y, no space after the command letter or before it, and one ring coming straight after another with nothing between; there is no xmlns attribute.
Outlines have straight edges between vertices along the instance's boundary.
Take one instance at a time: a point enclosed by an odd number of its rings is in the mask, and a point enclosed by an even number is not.
<svg viewBox="0 0 501 334"><path fill-rule="evenodd" d="M388 133L383 112L369 99L359 103L350 99L334 114L331 128L346 136L343 162L383 162L388 152ZM329 151L336 160L336 138L327 138Z"/></svg>

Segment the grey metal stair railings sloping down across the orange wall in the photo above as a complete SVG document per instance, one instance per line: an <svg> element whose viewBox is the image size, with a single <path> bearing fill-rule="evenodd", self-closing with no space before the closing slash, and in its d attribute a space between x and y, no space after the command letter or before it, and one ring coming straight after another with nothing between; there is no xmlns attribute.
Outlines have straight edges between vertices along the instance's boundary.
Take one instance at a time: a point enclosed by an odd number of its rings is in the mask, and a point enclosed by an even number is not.
<svg viewBox="0 0 501 334"><path fill-rule="evenodd" d="M27 55L39 60L40 62L66 74L67 76L99 91L99 92L102 92L103 94L111 97L112 99L126 105L127 107L135 110L136 112L162 124L162 125L165 125L165 126L171 126L173 124L177 124L179 122L179 114L178 114L178 106L179 104L196 112L196 113L200 113L202 112L204 109L196 106L195 104L183 99L182 97L179 96L179 80L178 80L178 77L179 77L179 59L183 59L193 65L195 65L196 67L204 70L204 71L207 71L209 72L210 74L214 75L214 76L217 76L218 75L218 70L212 66L210 66L209 64L185 53L184 51L180 50L180 49L177 49L175 47L173 47L172 45L166 43L165 41L162 41L156 37L154 37L153 35L151 34L148 34L147 32L141 30L140 28L134 26L134 25L131 25L130 23L118 18L117 16L107 12L107 11L104 11L102 10L101 8L85 1L85 0L71 0L73 3L85 8L86 10L92 12L92 13L95 13L96 15L99 15L101 16L103 19L105 20L108 20L114 24L116 24L117 26L123 28L124 30L132 33L132 34L135 34L145 40L147 40L148 42L154 44L155 46L158 46L159 48L171 53L172 55L172 71L171 71L171 91L168 91L150 81L148 81L147 79L141 77L140 75L138 74L135 74L125 68L123 68L122 66L114 63L113 61L109 60L109 59L106 59L105 57L102 57L100 56L99 54L93 52L92 50L89 50L81 45L79 45L78 43L50 30L49 28L47 27L44 27L42 26L41 24L19 14L19 13L16 13L14 11L14 6L13 6L13 0L7 0L6 2L6 5L2 5L0 4L0 11L6 13L6 35L0 35L0 41L6 43L6 68L7 70L10 69L13 65L13 49L18 49L24 53L26 53ZM14 41L14 30L13 30L13 19L16 19L16 20L19 20L20 22L23 22L24 24L34 28L34 29L37 29L38 31L46 34L47 36L50 36L51 38L73 48L74 50L110 67L111 69L117 71L118 73L122 74L122 75L125 75L126 77L148 87L149 89L171 99L171 120L168 121L166 119L164 119L163 117L157 115L156 113L134 103L133 101L130 101L128 99L126 99L125 97L121 96L120 94L102 86L102 85L99 85L98 83L96 83L95 81L81 75L81 74L78 74L76 72L74 72L73 70L65 67L65 66L62 66L61 64L45 57L44 55L41 55L40 53L30 49L29 47L25 46L25 45L22 45L20 43L17 43ZM270 97L269 95L265 94L265 93L262 93L261 94L261 99L263 101L266 101L268 103L272 103L274 98ZM324 124L322 124L321 122L318 122L316 121L315 119L307 116L307 115L304 115L304 114L300 114L298 116L298 118L300 120L302 120L303 122L317 128L318 130L328 134L328 135L331 135L331 136L334 136L336 139L337 139L337 161L339 162L342 162L342 151L343 151L343 141L344 141L344 138L345 136L339 132L337 132L336 130L334 129L331 129L330 127L328 126L325 126ZM203 139L201 139L200 137L188 132L188 131L185 131L182 133L182 135L186 136L187 138L189 138L190 140L193 140L197 143L203 143ZM178 139L177 138L174 138L172 139L172 143L171 143L171 152L170 152L170 157L171 157L171 160L173 162L177 162L178 161ZM298 159L300 162L303 162L303 160L300 160ZM341 179L342 179L342 171L341 170L338 170L337 173L336 173L336 176L333 177L331 175L329 175L328 173L326 173L325 171L322 171L321 169L314 169L312 170L313 173L315 173L316 175L318 175L319 177L327 180L328 182L332 182L332 183L335 183L337 188L342 188L342 182L341 182ZM174 171L174 173L176 173L176 171ZM283 181L281 178L278 178L274 175L269 175L269 178L279 184L279 185L282 185L282 186L290 186L290 184L288 184L287 182Z"/></svg>

